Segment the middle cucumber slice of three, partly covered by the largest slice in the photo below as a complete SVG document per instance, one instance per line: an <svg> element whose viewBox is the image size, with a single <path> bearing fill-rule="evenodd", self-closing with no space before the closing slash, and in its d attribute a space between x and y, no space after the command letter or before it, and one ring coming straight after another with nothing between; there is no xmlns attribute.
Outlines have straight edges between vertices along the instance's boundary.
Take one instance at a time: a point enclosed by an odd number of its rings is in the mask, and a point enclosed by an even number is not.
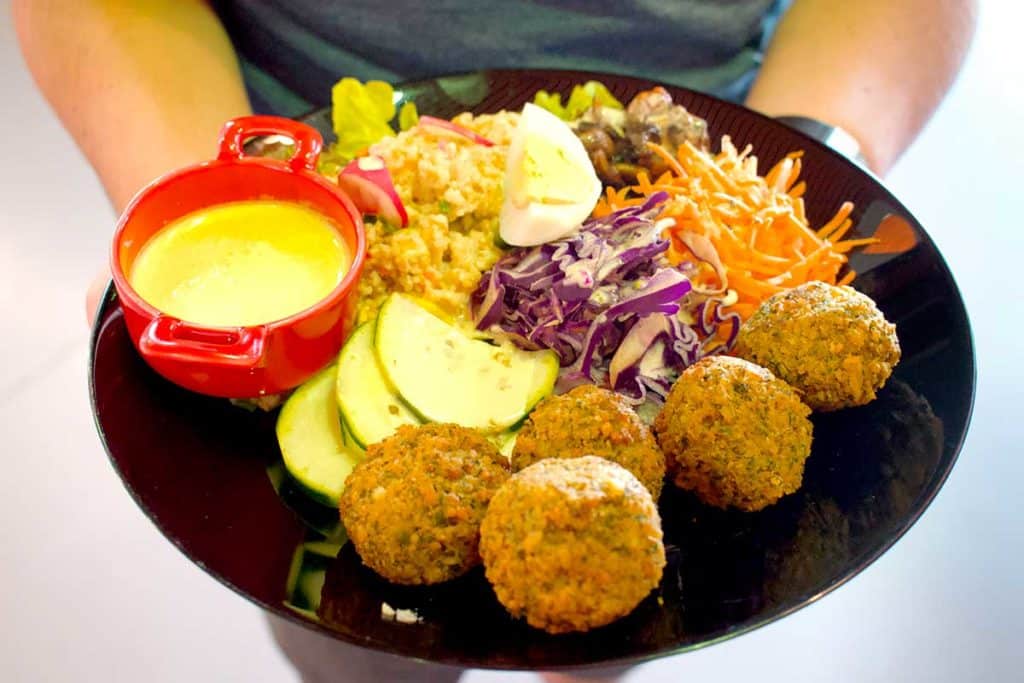
<svg viewBox="0 0 1024 683"><path fill-rule="evenodd" d="M374 352L374 327L372 322L360 326L338 356L338 408L352 438L364 449L401 425L420 424L381 374Z"/></svg>

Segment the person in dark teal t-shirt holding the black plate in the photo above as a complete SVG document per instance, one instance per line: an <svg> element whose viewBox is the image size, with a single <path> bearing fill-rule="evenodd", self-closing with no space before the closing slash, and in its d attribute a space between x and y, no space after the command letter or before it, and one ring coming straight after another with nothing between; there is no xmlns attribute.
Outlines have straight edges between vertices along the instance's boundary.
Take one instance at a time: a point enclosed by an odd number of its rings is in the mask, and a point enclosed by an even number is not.
<svg viewBox="0 0 1024 683"><path fill-rule="evenodd" d="M973 0L14 0L13 18L40 89L120 212L154 178L208 159L227 120L302 115L343 76L398 82L481 68L702 90L784 117L884 174L952 84L976 9ZM90 288L90 317L109 279L104 269ZM271 626L308 681L462 673Z"/></svg>

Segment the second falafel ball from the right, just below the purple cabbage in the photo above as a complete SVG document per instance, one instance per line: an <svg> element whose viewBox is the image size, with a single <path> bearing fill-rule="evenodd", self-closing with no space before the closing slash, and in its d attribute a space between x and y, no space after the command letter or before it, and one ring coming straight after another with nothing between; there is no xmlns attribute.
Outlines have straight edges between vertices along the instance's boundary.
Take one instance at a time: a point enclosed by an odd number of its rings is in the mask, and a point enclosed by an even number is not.
<svg viewBox="0 0 1024 683"><path fill-rule="evenodd" d="M755 511L800 488L810 413L764 368L709 356L680 375L654 434L677 486L709 505Z"/></svg>

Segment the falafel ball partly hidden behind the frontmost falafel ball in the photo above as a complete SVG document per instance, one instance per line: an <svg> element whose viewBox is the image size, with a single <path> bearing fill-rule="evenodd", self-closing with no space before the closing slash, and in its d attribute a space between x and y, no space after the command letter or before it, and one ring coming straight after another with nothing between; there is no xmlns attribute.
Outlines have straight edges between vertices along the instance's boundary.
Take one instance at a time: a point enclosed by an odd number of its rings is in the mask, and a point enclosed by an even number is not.
<svg viewBox="0 0 1024 683"><path fill-rule="evenodd" d="M549 396L530 414L516 437L512 469L545 458L598 456L622 465L657 501L665 456L633 407L614 391L593 384Z"/></svg>

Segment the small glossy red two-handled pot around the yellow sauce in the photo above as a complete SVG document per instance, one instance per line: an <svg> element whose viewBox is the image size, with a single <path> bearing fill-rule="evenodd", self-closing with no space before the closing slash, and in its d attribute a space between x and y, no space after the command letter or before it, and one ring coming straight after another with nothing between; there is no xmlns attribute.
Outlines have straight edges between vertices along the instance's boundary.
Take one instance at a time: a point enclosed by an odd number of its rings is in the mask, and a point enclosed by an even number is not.
<svg viewBox="0 0 1024 683"><path fill-rule="evenodd" d="M294 156L288 161L246 157L246 140L258 135L291 138ZM125 209L114 234L111 271L132 343L155 371L199 393L253 398L298 386L338 353L354 322L367 240L352 202L315 173L322 146L316 130L290 119L229 121L220 133L217 159L159 178ZM127 273L158 230L194 211L249 200L297 202L332 220L352 262L326 298L265 325L221 328L168 315L132 289Z"/></svg>

